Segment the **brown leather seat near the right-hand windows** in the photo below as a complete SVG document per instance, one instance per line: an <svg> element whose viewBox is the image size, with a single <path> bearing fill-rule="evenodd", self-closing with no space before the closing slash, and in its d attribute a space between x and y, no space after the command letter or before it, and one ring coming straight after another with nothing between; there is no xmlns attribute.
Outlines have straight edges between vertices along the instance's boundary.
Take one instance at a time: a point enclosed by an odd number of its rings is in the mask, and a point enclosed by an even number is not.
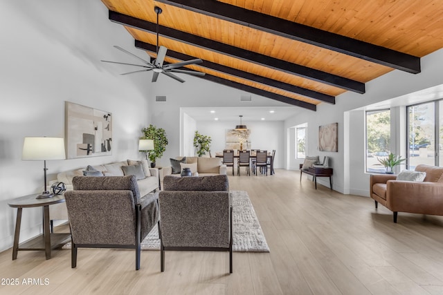
<svg viewBox="0 0 443 295"><path fill-rule="evenodd" d="M415 171L426 172L423 182L396 180L396 175L370 175L370 197L394 213L443 215L443 167L420 164Z"/></svg>

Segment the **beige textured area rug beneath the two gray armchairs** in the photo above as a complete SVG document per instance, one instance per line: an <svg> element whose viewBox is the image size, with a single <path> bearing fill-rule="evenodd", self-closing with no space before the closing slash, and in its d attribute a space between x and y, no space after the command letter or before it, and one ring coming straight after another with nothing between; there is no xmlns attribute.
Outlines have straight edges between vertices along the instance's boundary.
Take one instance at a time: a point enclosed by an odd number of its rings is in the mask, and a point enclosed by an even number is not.
<svg viewBox="0 0 443 295"><path fill-rule="evenodd" d="M266 238L246 191L230 191L233 205L233 251L269 252ZM71 242L63 246L71 249ZM143 250L159 250L159 227L155 226L141 242Z"/></svg>

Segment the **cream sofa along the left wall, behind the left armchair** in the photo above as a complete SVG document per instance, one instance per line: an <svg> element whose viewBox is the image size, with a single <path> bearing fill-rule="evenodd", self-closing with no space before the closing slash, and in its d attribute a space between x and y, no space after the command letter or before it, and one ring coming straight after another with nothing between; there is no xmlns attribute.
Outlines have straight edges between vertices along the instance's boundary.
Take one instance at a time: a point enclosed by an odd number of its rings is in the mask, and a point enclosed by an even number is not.
<svg viewBox="0 0 443 295"><path fill-rule="evenodd" d="M125 175L125 173L122 166L133 166L136 164L141 164L143 166L143 174L145 176L145 178L142 178L142 176L140 176L138 178L141 179L137 180L140 196L143 197L147 195L147 193L159 189L159 169L150 168L147 164L147 160L126 160L122 162L113 162L92 167L104 176L123 176ZM86 169L87 167L60 172L57 174L56 182L64 182L64 184L66 185L66 190L72 191L72 179L74 178L74 176L83 176ZM127 168L125 170L127 170ZM51 220L67 220L68 213L66 211L66 204L60 203L49 206L49 216L51 217Z"/></svg>

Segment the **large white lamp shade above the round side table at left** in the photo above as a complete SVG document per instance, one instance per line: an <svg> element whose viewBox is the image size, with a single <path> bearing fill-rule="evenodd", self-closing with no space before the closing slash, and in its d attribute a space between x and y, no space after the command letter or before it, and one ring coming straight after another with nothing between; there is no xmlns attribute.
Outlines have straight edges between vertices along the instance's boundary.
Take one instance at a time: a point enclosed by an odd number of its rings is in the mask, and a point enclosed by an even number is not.
<svg viewBox="0 0 443 295"><path fill-rule="evenodd" d="M21 160L64 160L64 139L60 137L25 137Z"/></svg>

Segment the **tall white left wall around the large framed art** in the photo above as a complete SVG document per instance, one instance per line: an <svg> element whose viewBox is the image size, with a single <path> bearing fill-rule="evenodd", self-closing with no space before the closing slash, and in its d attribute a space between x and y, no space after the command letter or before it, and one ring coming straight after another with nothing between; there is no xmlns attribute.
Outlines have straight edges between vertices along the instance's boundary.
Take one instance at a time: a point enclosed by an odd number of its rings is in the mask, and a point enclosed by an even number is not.
<svg viewBox="0 0 443 295"><path fill-rule="evenodd" d="M43 162L21 161L24 137L64 137L64 102L75 102L113 114L112 155L47 161L50 180L87 164L143 158L138 137L150 122L150 83L100 62L125 58L114 44L134 48L101 1L0 1L0 35L1 251L12 247L15 229L17 209L8 200L42 191ZM21 241L41 227L42 209L24 209Z"/></svg>

